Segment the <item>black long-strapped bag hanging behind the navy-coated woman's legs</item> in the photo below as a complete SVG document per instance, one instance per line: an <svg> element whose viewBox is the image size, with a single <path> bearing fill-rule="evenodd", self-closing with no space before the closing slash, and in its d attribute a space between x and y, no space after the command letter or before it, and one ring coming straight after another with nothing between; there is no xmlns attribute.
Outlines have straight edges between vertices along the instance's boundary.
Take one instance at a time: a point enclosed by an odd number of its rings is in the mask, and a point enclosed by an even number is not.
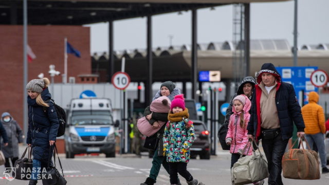
<svg viewBox="0 0 329 185"><path fill-rule="evenodd" d="M53 144L53 147L50 147L50 150L52 150L51 152L53 152L54 167L50 167L50 165L49 165L50 161L51 161L50 152L49 152L49 161L48 161L47 172L43 174L42 184L43 185L65 185L67 183L67 181L64 178L62 163L61 163L60 157L58 156L56 144ZM56 154L58 157L58 161L60 163L62 175L56 169Z"/></svg>

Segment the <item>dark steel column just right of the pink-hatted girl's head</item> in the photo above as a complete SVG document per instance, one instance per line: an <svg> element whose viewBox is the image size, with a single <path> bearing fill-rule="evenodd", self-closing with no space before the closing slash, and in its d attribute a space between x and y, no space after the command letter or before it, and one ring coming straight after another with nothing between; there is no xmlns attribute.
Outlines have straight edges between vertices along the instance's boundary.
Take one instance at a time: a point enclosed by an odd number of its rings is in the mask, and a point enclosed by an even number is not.
<svg viewBox="0 0 329 185"><path fill-rule="evenodd" d="M191 56L191 82L192 82L192 99L197 101L196 92L196 76L197 76L197 10L192 10L192 56Z"/></svg>

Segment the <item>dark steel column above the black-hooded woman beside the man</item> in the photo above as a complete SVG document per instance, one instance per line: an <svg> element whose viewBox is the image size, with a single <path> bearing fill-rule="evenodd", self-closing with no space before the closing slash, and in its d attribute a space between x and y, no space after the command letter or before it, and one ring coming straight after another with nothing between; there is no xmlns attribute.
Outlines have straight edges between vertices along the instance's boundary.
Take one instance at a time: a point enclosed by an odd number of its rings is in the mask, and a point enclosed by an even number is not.
<svg viewBox="0 0 329 185"><path fill-rule="evenodd" d="M245 50L245 74L244 76L249 76L250 75L250 4L246 3L244 4L245 7L245 45L244 45L244 50Z"/></svg>

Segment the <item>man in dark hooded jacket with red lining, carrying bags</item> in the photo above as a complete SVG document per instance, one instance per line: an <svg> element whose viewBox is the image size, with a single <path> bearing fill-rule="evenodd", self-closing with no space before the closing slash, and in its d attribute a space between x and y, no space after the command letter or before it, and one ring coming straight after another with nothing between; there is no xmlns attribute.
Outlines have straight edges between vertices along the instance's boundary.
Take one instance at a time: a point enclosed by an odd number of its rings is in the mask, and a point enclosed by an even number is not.
<svg viewBox="0 0 329 185"><path fill-rule="evenodd" d="M293 85L281 82L275 66L265 63L257 73L252 98L251 116L247 126L248 138L262 139L268 161L268 184L282 185L281 172L284 151L293 135L304 135L304 121Z"/></svg>

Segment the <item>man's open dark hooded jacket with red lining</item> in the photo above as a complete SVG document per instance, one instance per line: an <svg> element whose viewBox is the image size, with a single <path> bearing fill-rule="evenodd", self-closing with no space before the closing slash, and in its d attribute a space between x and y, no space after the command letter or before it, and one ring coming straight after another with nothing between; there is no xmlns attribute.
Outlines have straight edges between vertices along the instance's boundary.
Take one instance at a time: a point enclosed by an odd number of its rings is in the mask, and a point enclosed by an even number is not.
<svg viewBox="0 0 329 185"><path fill-rule="evenodd" d="M265 63L258 72L256 78L260 84L262 81L262 73L271 73L277 80L276 106L280 120L280 129L282 139L289 139L293 135L293 123L297 127L297 132L304 132L304 120L301 114L301 107L298 103L294 86L285 82L281 82L281 77L271 63ZM255 85L252 94L250 120L247 126L248 134L256 136L258 139L261 135L261 115L260 115L260 99L262 90L259 85Z"/></svg>

